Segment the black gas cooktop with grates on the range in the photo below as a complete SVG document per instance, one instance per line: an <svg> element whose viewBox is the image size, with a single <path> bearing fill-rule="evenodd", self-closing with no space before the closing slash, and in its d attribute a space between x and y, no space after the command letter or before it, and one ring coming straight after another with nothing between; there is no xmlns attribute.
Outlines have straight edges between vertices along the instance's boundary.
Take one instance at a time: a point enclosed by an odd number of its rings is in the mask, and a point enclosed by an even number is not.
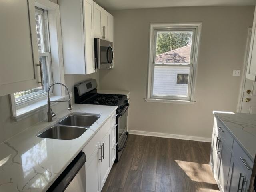
<svg viewBox="0 0 256 192"><path fill-rule="evenodd" d="M126 100L125 95L97 93L87 100L84 100L83 104L120 106L124 100Z"/></svg>

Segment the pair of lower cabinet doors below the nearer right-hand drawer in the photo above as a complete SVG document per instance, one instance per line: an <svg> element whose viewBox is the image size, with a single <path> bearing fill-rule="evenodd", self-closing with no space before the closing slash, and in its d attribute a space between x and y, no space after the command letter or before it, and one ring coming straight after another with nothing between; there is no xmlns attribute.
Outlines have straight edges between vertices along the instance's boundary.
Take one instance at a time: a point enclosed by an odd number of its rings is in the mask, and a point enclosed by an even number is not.
<svg viewBox="0 0 256 192"><path fill-rule="evenodd" d="M232 155L228 176L227 192L248 192L250 176L243 165Z"/></svg>

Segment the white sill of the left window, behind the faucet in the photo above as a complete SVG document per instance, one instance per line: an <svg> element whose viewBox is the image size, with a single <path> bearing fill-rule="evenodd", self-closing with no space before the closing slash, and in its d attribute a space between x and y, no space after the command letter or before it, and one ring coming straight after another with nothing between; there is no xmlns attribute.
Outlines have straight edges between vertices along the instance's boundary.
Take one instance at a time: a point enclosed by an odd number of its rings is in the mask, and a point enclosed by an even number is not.
<svg viewBox="0 0 256 192"><path fill-rule="evenodd" d="M67 97L68 96L52 96L51 101L60 101ZM55 104L57 104L57 103L52 103L51 105L53 106ZM29 105L26 105L22 108L16 109L16 115L12 116L12 119L14 119L16 121L20 121L20 120L22 120L26 117L29 117L29 116L33 115L34 113L44 110L46 108L47 108L47 99L38 100L38 101L33 102Z"/></svg>

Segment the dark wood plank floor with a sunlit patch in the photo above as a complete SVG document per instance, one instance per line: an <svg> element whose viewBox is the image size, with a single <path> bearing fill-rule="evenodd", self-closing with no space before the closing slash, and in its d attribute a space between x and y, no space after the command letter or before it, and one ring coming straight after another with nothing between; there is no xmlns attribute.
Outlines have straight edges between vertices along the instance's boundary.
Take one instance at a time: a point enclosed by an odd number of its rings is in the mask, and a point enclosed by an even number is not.
<svg viewBox="0 0 256 192"><path fill-rule="evenodd" d="M129 135L102 192L219 192L210 143Z"/></svg>

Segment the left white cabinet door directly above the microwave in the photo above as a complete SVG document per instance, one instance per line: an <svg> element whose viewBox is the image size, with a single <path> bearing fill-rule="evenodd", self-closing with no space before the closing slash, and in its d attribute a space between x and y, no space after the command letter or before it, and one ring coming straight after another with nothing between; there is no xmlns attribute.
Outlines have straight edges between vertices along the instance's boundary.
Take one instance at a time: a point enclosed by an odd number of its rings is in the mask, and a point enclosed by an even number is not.
<svg viewBox="0 0 256 192"><path fill-rule="evenodd" d="M94 38L103 38L103 29L101 24L101 11L102 8L93 2L93 8L94 8Z"/></svg>

